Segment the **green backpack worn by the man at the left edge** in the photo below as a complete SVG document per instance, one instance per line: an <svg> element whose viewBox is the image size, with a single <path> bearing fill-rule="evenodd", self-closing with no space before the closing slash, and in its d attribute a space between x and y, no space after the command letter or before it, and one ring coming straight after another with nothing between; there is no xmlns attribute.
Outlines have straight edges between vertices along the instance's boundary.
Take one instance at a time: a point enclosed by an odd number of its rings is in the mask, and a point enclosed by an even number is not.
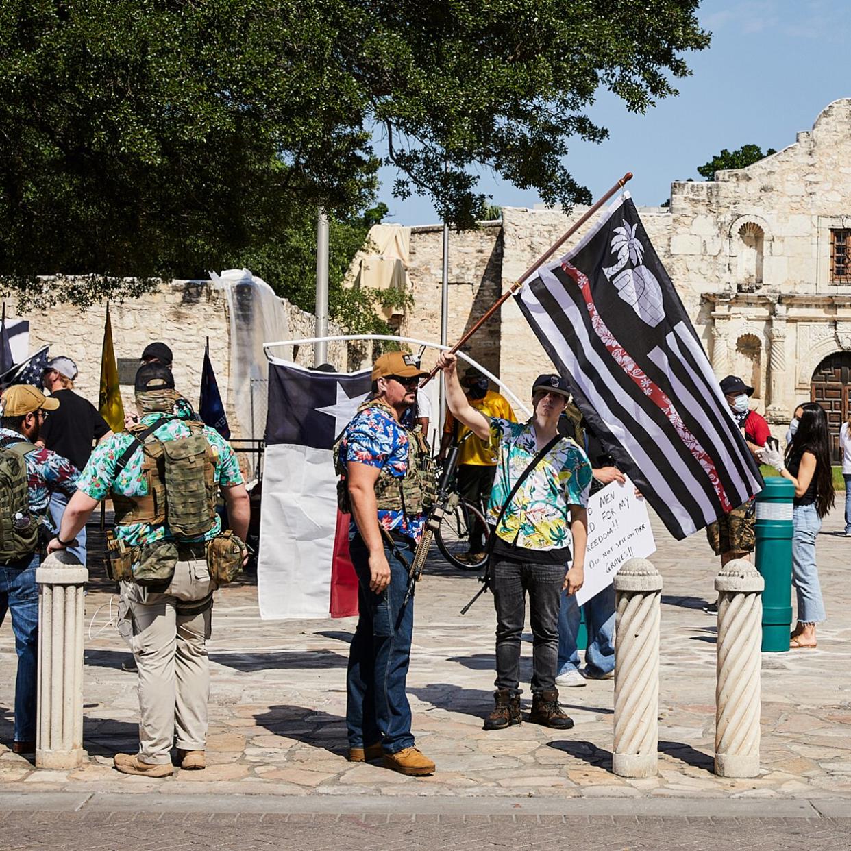
<svg viewBox="0 0 851 851"><path fill-rule="evenodd" d="M18 562L36 551L38 518L30 513L25 460L35 449L14 437L0 442L0 564Z"/></svg>

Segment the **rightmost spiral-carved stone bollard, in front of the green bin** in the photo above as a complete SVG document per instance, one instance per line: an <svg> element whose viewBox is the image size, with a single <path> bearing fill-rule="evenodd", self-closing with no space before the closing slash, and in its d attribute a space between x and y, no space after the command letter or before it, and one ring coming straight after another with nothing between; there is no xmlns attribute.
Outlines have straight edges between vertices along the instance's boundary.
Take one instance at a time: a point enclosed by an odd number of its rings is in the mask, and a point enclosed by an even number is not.
<svg viewBox="0 0 851 851"><path fill-rule="evenodd" d="M765 580L736 558L715 580L718 596L715 773L759 774L760 643Z"/></svg>

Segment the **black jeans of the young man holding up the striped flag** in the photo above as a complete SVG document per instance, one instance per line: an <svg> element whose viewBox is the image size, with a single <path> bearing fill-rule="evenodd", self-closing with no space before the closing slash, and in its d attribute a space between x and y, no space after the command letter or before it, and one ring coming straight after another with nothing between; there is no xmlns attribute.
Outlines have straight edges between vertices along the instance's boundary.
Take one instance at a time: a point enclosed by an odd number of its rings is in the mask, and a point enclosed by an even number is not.
<svg viewBox="0 0 851 851"><path fill-rule="evenodd" d="M520 688L520 641L526 592L532 626L532 694L556 688L558 609L566 564L497 559L491 568L496 606L496 688Z"/></svg>

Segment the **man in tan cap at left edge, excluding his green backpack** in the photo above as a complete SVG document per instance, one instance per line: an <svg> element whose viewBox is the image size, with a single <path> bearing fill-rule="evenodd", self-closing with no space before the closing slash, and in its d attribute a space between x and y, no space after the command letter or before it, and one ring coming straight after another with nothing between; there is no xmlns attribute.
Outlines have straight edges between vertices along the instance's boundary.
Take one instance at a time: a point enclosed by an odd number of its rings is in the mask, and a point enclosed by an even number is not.
<svg viewBox="0 0 851 851"><path fill-rule="evenodd" d="M9 387L3 392L0 447L34 444L45 417L59 408L56 399L45 398L31 385ZM26 445L23 447L26 449ZM24 456L30 523L47 523L51 494L70 497L77 490L77 467L44 447L32 446ZM36 750L36 694L38 663L38 551L15 563L0 564L0 624L12 615L18 673L14 685L15 753Z"/></svg>

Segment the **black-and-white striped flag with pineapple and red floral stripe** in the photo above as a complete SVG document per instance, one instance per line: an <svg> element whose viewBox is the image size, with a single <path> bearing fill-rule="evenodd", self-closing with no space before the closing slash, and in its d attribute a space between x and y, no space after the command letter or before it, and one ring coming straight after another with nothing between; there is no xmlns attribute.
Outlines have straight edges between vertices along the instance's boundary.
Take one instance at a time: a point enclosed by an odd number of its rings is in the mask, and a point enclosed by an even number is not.
<svg viewBox="0 0 851 851"><path fill-rule="evenodd" d="M683 302L628 192L517 294L591 428L684 538L762 490Z"/></svg>

